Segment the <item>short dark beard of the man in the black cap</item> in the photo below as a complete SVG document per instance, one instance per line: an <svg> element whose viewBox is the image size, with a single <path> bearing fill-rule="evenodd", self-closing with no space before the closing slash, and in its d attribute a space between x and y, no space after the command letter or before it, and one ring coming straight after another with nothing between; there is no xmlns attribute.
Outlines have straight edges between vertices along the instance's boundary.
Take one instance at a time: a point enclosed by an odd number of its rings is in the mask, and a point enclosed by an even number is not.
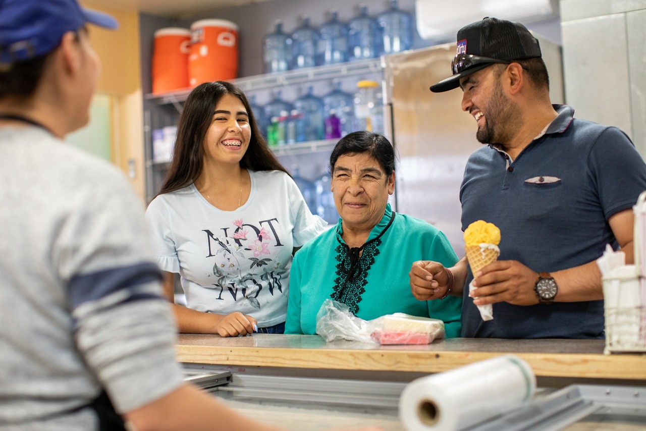
<svg viewBox="0 0 646 431"><path fill-rule="evenodd" d="M485 125L475 132L480 143L505 146L512 136L512 117L516 110L505 94L501 85L497 85L494 94L485 107Z"/></svg>

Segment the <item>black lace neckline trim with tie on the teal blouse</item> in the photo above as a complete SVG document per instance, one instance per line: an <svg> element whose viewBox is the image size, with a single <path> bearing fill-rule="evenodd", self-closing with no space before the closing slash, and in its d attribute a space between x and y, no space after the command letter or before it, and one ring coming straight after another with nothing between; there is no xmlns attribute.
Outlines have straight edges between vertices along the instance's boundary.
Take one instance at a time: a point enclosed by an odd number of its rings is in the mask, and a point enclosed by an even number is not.
<svg viewBox="0 0 646 431"><path fill-rule="evenodd" d="M365 286L368 283L368 271L375 263L375 257L379 255L379 246L381 245L381 236L388 230L395 219L395 211L390 215L388 224L376 238L367 241L361 247L350 248L348 244L341 242L337 236L339 245L335 249L337 252L337 278L334 280L334 291L330 297L338 302L342 302L349 307L353 314L359 311L359 302L361 295L366 291ZM363 250L363 253L359 253Z"/></svg>

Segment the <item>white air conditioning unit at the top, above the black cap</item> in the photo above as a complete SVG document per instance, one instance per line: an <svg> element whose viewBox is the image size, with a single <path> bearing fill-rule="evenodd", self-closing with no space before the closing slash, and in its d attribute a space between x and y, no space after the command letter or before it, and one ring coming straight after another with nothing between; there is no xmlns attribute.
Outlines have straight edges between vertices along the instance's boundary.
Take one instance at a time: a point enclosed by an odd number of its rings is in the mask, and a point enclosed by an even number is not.
<svg viewBox="0 0 646 431"><path fill-rule="evenodd" d="M525 24L557 14L557 0L415 0L417 32L422 39L455 36L463 26L484 17Z"/></svg>

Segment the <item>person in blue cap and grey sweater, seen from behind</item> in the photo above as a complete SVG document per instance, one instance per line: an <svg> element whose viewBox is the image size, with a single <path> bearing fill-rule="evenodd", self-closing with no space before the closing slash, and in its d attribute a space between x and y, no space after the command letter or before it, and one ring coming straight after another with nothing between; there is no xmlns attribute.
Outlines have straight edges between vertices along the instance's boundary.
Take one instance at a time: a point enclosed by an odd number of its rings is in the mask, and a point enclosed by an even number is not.
<svg viewBox="0 0 646 431"><path fill-rule="evenodd" d="M89 23L117 26L0 0L0 429L280 430L183 382L141 202L62 141L88 121Z"/></svg>

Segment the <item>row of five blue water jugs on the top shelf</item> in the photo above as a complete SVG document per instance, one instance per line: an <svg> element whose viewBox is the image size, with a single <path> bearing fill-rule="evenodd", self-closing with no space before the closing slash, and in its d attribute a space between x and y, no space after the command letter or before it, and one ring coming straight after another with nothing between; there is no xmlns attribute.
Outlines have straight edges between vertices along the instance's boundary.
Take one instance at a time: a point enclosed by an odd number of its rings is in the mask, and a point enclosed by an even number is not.
<svg viewBox="0 0 646 431"><path fill-rule="evenodd" d="M309 17L292 32L286 32L276 21L274 32L264 37L264 72L284 72L304 67L331 65L412 48L412 15L399 9L397 0L390 0L390 9L370 17L367 6L344 23L337 11L315 28Z"/></svg>

